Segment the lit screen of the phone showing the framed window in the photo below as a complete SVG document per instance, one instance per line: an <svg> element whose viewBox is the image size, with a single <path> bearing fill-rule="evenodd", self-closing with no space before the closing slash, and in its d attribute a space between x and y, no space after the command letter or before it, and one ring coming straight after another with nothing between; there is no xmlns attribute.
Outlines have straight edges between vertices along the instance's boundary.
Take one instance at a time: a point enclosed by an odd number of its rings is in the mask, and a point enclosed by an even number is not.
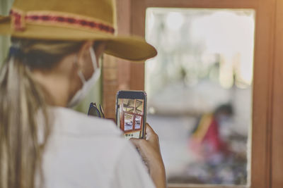
<svg viewBox="0 0 283 188"><path fill-rule="evenodd" d="M141 138L144 123L144 99L118 99L117 126L125 138Z"/></svg>

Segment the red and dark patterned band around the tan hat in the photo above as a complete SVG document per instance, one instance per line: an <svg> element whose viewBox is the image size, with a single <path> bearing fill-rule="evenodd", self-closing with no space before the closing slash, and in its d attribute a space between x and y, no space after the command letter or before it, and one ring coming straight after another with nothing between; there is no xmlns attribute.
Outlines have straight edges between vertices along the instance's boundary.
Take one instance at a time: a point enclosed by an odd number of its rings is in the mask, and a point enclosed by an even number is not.
<svg viewBox="0 0 283 188"><path fill-rule="evenodd" d="M29 11L24 13L13 8L10 12L13 30L25 30L25 24L52 25L58 27L72 27L76 29L86 29L91 31L106 32L114 35L115 29L108 23L94 20L82 15L62 13L55 11Z"/></svg>

